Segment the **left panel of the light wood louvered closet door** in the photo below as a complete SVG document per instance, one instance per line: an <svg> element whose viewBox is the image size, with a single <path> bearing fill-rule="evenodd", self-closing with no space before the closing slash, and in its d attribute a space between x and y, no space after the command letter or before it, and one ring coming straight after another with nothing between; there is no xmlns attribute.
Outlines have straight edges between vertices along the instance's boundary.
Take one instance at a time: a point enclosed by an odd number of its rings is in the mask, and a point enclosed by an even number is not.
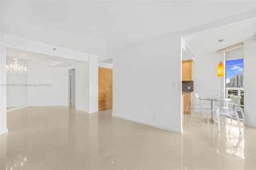
<svg viewBox="0 0 256 170"><path fill-rule="evenodd" d="M98 73L98 110L106 109L105 105L105 69L99 68Z"/></svg>

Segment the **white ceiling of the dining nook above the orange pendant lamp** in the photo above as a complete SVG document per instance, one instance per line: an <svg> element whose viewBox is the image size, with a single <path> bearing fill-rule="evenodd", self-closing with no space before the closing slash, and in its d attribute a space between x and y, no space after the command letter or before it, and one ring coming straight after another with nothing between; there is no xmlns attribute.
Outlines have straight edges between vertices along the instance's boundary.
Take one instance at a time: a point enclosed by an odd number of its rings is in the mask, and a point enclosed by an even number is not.
<svg viewBox="0 0 256 170"><path fill-rule="evenodd" d="M205 30L196 34L184 36L184 41L194 54L218 51L223 39L222 48L244 42L256 35L256 17L218 28Z"/></svg>

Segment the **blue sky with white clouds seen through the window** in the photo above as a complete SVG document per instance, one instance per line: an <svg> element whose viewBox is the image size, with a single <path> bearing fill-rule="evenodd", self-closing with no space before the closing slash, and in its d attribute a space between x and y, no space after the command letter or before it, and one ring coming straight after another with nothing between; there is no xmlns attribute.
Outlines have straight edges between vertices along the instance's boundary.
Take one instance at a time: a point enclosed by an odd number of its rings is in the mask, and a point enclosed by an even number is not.
<svg viewBox="0 0 256 170"><path fill-rule="evenodd" d="M240 72L244 72L244 59L226 60L226 83Z"/></svg>

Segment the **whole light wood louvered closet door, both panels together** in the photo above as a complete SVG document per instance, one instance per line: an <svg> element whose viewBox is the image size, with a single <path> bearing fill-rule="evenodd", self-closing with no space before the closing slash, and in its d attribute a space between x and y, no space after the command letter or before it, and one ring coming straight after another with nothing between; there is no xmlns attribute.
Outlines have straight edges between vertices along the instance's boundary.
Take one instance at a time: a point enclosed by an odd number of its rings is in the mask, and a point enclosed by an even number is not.
<svg viewBox="0 0 256 170"><path fill-rule="evenodd" d="M98 68L98 110L112 108L112 69Z"/></svg>

